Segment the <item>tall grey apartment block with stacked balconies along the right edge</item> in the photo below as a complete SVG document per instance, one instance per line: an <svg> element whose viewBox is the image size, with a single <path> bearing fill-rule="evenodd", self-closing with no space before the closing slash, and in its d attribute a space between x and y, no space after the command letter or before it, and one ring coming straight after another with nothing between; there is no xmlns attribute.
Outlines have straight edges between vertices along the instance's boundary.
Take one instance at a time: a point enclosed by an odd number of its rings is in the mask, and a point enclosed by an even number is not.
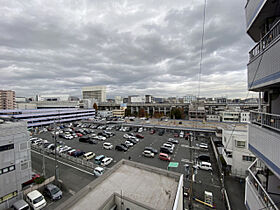
<svg viewBox="0 0 280 210"><path fill-rule="evenodd" d="M280 1L247 0L245 10L247 33L256 42L249 52L248 89L267 104L265 110L251 111L248 142L257 159L248 169L245 205L279 209Z"/></svg>

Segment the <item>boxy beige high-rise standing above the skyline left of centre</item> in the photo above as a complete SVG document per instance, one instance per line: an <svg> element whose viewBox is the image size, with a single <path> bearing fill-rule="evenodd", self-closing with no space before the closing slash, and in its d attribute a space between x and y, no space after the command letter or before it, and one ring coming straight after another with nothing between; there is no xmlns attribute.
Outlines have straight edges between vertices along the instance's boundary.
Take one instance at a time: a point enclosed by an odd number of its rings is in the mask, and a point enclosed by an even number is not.
<svg viewBox="0 0 280 210"><path fill-rule="evenodd" d="M95 99L97 102L106 102L106 86L91 86L82 88L83 99Z"/></svg>

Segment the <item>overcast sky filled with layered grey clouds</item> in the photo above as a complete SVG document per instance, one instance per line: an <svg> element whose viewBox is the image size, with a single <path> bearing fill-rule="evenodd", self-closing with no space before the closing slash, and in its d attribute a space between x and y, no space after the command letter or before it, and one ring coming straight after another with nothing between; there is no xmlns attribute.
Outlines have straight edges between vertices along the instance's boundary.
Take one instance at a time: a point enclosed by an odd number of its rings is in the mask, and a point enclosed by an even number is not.
<svg viewBox="0 0 280 210"><path fill-rule="evenodd" d="M208 0L200 96L247 95L246 0ZM0 89L198 94L204 0L1 0ZM251 93L250 93L251 96Z"/></svg>

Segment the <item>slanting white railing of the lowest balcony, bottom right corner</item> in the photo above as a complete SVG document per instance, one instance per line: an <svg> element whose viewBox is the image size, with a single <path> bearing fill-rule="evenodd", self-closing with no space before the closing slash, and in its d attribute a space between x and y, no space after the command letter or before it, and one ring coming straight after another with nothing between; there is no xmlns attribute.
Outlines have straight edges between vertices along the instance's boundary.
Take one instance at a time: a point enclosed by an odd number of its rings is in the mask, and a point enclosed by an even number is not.
<svg viewBox="0 0 280 210"><path fill-rule="evenodd" d="M265 208L263 209L271 209L271 210L278 210L278 207L275 205L273 200L270 198L269 194L266 192L264 187L262 186L261 182L257 179L256 173L259 172L257 167L257 161L256 159L252 165L248 168L249 176L248 181L252 184L252 186L255 187L257 193L259 194L259 197L261 198L263 205Z"/></svg>

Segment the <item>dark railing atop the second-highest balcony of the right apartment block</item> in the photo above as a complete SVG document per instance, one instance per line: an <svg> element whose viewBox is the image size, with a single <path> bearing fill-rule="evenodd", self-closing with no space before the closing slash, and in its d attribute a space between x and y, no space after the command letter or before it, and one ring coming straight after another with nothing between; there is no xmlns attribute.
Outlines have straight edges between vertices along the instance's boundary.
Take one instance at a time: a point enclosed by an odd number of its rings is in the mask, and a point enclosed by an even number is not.
<svg viewBox="0 0 280 210"><path fill-rule="evenodd" d="M258 42L258 44L249 52L250 61L263 52L272 41L280 34L280 20L270 29L269 32Z"/></svg>

